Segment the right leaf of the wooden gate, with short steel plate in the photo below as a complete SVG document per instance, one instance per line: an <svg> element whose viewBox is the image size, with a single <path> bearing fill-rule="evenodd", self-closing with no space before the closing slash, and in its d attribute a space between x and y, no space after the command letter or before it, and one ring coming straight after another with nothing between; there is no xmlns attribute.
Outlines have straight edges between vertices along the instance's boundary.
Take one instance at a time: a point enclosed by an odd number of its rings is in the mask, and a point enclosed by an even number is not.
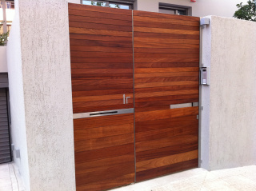
<svg viewBox="0 0 256 191"><path fill-rule="evenodd" d="M198 167L198 70L199 18L134 11L136 181Z"/></svg>

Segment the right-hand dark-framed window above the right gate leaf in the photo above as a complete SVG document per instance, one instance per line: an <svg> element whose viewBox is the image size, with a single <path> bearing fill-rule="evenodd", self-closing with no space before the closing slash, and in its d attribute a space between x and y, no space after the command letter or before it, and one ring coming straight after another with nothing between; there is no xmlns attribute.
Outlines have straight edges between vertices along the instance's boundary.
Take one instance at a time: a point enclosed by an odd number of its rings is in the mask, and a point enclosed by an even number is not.
<svg viewBox="0 0 256 191"><path fill-rule="evenodd" d="M159 13L162 14L178 14L178 15L192 15L191 6L179 6L168 3L159 2Z"/></svg>

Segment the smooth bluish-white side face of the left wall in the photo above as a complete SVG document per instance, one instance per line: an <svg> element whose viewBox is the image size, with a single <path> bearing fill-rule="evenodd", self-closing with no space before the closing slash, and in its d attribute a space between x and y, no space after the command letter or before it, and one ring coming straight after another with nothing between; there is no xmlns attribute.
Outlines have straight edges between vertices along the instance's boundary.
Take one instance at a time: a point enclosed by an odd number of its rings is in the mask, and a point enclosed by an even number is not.
<svg viewBox="0 0 256 191"><path fill-rule="evenodd" d="M10 113L11 113L11 137L15 149L20 149L21 158L16 158L14 152L14 162L22 174L24 185L30 188L30 170L28 162L28 150L26 141L26 120L25 104L22 76L22 50L21 31L18 3L15 1L16 14L10 30L10 37L7 46L8 78L10 93Z"/></svg>

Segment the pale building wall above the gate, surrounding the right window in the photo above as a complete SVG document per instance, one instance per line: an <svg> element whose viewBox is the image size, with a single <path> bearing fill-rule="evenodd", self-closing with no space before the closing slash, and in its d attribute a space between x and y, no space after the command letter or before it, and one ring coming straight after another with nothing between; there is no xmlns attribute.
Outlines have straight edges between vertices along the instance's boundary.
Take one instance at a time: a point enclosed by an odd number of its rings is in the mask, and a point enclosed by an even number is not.
<svg viewBox="0 0 256 191"><path fill-rule="evenodd" d="M159 2L182 6L192 6L192 16L203 17L206 15L217 15L232 18L237 10L236 4L247 2L247 0L138 0L137 9L159 12Z"/></svg>

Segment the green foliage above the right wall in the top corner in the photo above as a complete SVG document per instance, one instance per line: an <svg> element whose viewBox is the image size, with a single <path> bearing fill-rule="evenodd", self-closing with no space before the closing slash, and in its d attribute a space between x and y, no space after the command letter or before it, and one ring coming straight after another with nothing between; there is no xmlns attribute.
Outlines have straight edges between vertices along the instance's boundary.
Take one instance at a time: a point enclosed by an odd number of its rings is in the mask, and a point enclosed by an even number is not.
<svg viewBox="0 0 256 191"><path fill-rule="evenodd" d="M246 5L237 4L238 10L234 12L234 18L256 22L256 0L249 0Z"/></svg>

